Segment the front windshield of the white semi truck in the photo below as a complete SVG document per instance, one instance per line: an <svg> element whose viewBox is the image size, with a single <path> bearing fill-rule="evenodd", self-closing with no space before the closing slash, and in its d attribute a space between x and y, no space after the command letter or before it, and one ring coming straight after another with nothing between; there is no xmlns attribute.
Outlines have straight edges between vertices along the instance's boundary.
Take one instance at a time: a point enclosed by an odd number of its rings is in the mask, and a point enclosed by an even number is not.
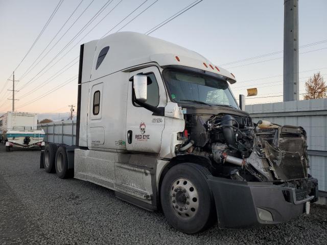
<svg viewBox="0 0 327 245"><path fill-rule="evenodd" d="M227 82L223 79L175 69L165 70L164 78L174 102L239 109Z"/></svg>

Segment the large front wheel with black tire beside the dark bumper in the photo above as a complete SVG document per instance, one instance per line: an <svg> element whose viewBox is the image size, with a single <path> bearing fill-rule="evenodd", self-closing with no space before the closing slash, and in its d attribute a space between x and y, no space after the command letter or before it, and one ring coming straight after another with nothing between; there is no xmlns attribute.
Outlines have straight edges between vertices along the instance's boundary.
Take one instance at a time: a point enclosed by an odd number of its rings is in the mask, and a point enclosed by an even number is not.
<svg viewBox="0 0 327 245"><path fill-rule="evenodd" d="M168 223L188 234L205 230L217 217L206 179L207 168L194 163L173 166L162 180L160 201Z"/></svg>

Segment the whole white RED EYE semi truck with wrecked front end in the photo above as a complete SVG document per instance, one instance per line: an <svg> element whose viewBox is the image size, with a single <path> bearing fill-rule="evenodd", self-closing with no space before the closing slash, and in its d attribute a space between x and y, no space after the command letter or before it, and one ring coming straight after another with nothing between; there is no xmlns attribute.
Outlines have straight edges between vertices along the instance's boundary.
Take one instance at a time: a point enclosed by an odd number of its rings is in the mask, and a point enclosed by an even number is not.
<svg viewBox="0 0 327 245"><path fill-rule="evenodd" d="M162 210L197 233L282 223L317 201L301 127L252 122L227 70L173 43L119 32L81 45L76 145L40 167Z"/></svg>

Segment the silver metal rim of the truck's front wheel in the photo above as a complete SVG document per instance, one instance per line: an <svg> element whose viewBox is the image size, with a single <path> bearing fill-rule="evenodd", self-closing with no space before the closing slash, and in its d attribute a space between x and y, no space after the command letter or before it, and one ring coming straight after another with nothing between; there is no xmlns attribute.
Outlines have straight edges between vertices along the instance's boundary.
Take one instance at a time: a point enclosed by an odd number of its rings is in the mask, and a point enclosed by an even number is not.
<svg viewBox="0 0 327 245"><path fill-rule="evenodd" d="M170 187L170 204L174 213L184 219L192 218L199 209L199 195L194 184L185 178L176 179Z"/></svg>

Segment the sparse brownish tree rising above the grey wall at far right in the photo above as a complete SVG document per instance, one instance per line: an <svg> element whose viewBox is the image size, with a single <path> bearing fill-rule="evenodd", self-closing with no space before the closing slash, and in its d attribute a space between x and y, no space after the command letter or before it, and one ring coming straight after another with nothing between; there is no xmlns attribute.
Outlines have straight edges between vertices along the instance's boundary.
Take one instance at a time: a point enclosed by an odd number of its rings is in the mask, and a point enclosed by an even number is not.
<svg viewBox="0 0 327 245"><path fill-rule="evenodd" d="M323 81L320 72L313 75L306 82L306 94L303 96L305 100L325 98L327 93L327 86Z"/></svg>

